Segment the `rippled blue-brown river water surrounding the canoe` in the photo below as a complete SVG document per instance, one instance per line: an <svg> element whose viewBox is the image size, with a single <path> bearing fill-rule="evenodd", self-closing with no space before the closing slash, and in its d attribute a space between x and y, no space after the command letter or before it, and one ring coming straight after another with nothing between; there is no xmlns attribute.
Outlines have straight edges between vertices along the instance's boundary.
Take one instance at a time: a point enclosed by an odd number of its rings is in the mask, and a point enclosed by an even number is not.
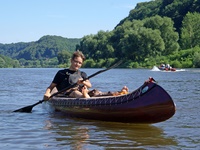
<svg viewBox="0 0 200 150"><path fill-rule="evenodd" d="M82 69L91 75L100 69ZM161 72L151 69L111 69L91 78L93 88L134 90L153 77L173 98L175 115L150 125L65 118L46 110L13 110L42 100L58 68L0 69L1 150L200 149L200 69Z"/></svg>

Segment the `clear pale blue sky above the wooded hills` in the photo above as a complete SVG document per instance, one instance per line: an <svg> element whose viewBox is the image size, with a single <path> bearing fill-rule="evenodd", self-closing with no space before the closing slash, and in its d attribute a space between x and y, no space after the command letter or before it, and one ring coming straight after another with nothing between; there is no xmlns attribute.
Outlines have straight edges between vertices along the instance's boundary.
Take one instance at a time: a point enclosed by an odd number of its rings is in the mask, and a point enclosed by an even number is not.
<svg viewBox="0 0 200 150"><path fill-rule="evenodd" d="M81 38L111 31L137 3L149 0L0 0L0 43L44 35Z"/></svg>

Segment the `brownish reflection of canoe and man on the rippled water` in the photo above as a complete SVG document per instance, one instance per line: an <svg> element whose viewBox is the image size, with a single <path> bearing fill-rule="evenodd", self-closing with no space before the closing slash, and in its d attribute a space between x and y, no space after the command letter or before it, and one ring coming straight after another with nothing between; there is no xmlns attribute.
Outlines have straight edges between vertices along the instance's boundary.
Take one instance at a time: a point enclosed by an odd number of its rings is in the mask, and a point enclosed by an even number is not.
<svg viewBox="0 0 200 150"><path fill-rule="evenodd" d="M127 124L82 119L66 119L56 113L46 122L46 129L55 132L56 141L71 148L162 148L177 143L166 137L163 130L153 125Z"/></svg>

